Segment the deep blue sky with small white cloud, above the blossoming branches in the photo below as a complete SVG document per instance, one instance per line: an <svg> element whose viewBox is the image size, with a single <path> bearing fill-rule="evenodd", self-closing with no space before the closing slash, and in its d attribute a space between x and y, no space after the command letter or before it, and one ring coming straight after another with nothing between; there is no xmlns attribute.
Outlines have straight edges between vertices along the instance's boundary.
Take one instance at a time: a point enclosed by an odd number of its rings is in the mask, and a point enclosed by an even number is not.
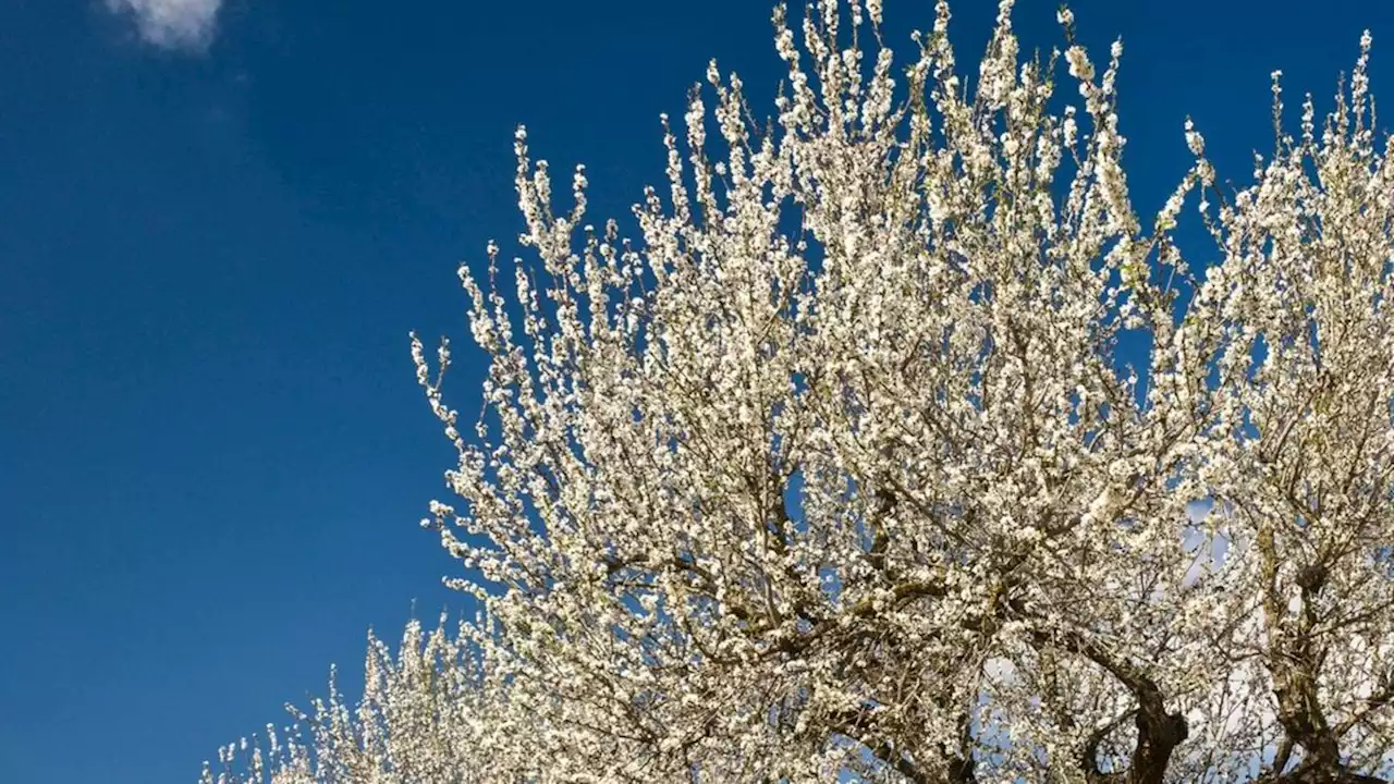
<svg viewBox="0 0 1394 784"><path fill-rule="evenodd" d="M927 25L927 0L887 3ZM1055 3L1022 0L1027 46ZM1330 106L1394 7L1075 4L1126 45L1139 209L1267 151L1269 73ZM960 61L993 17L955 4ZM662 177L708 57L768 106L768 0L0 1L0 777L192 781L282 704L350 689L365 631L463 601L415 522L452 453L407 332L467 342L454 266L520 229L512 133L595 215ZM909 52L906 47L905 52ZM562 169L565 170L565 169ZM598 220L597 220L598 222ZM470 364L475 354L457 352ZM477 368L452 400L477 406Z"/></svg>

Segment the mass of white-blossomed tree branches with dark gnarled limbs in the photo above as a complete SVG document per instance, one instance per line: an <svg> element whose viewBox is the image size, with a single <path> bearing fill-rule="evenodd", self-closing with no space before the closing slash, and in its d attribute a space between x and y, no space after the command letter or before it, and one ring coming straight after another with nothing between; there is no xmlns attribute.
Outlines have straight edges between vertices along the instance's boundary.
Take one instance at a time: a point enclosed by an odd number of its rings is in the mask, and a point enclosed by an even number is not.
<svg viewBox="0 0 1394 784"><path fill-rule="evenodd" d="M944 1L906 68L880 0L818 0L802 46L778 8L778 121L712 64L686 144L665 119L641 240L584 222L580 167L553 212L519 130L537 261L509 297L495 246L487 289L460 269L491 359L473 435L413 338L460 453L461 502L428 523L482 619L424 654L411 626L396 665L374 643L358 713L319 707L256 776L1394 776L1394 179L1369 36L1296 138L1274 74L1248 188L1214 187L1188 121L1195 163L1144 225L1121 45L1100 73L1062 10L1065 52L1023 60L1011 6L972 85ZM1190 198L1204 266L1174 236Z"/></svg>

